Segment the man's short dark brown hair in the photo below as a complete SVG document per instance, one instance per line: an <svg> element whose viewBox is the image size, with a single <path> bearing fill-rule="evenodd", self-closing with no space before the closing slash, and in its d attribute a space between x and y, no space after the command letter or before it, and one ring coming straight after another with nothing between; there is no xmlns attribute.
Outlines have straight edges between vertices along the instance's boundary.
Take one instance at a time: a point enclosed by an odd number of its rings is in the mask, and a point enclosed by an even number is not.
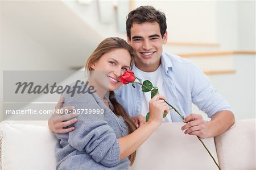
<svg viewBox="0 0 256 170"><path fill-rule="evenodd" d="M137 9L130 11L126 19L126 34L131 39L131 26L133 23L144 23L144 22L157 22L160 27L160 32L163 38L163 35L166 33L166 15L156 10L152 6L140 6Z"/></svg>

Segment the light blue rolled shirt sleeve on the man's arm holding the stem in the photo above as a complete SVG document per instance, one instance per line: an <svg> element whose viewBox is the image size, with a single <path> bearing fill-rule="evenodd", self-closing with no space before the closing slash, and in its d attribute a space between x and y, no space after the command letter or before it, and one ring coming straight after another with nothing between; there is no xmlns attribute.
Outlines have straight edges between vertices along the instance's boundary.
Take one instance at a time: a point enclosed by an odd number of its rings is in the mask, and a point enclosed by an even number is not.
<svg viewBox="0 0 256 170"><path fill-rule="evenodd" d="M192 66L191 75L191 97L192 102L199 107L200 110L207 113L209 118L218 111L230 110L232 111L229 103L222 97L217 90L213 88L209 78L205 76L203 71L196 65Z"/></svg>

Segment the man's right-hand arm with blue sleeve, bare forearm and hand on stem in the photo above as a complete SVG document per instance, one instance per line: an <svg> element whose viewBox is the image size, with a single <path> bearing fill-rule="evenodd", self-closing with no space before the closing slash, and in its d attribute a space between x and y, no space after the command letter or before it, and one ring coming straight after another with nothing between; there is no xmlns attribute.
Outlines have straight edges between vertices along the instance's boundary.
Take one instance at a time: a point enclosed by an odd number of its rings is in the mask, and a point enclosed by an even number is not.
<svg viewBox="0 0 256 170"><path fill-rule="evenodd" d="M200 138L210 138L228 130L234 124L234 115L226 99L217 93L209 78L196 65L191 65L188 78L192 103L212 119L205 122L200 114L189 114L181 130Z"/></svg>

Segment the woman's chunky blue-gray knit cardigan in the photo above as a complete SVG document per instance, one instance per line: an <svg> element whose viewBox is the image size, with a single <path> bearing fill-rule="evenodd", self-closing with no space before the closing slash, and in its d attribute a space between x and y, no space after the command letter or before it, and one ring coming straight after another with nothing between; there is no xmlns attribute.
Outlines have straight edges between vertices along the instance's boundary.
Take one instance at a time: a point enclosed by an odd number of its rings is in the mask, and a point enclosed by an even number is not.
<svg viewBox="0 0 256 170"><path fill-rule="evenodd" d="M118 138L128 134L123 118L117 117L96 93L73 97L64 94L63 107L71 105L80 114L73 125L75 130L55 134L59 139L55 148L56 169L128 169L130 160L127 157L119 160ZM113 109L112 105L110 107ZM99 110L103 114L93 114Z"/></svg>

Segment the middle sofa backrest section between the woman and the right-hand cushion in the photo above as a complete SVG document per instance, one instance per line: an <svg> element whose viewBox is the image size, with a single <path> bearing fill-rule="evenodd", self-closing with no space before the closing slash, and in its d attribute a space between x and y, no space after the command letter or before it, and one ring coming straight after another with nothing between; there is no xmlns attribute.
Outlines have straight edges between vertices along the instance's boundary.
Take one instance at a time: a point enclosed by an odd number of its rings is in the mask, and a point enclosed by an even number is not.
<svg viewBox="0 0 256 170"><path fill-rule="evenodd" d="M196 136L181 131L184 123L162 123L162 125L139 147L135 169L217 169L203 144ZM203 139L216 161L218 161L214 138Z"/></svg>

